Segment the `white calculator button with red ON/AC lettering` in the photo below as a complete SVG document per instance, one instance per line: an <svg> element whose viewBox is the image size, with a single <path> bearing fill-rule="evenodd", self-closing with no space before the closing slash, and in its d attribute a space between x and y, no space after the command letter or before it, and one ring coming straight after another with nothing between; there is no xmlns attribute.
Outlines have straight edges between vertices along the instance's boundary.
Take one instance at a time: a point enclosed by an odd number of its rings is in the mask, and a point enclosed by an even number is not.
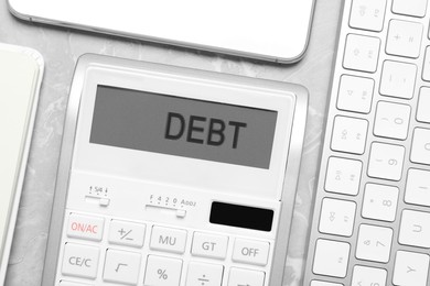
<svg viewBox="0 0 430 286"><path fill-rule="evenodd" d="M105 220L103 218L71 213L68 216L67 237L101 241L104 224Z"/></svg>

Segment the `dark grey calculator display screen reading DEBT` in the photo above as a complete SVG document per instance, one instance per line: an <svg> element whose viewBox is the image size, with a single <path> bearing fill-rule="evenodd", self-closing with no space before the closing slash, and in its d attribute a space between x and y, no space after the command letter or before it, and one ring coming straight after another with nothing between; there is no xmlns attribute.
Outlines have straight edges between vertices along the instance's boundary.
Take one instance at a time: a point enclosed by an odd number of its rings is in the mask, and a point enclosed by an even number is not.
<svg viewBox="0 0 430 286"><path fill-rule="evenodd" d="M277 111L98 86L90 143L270 167Z"/></svg>

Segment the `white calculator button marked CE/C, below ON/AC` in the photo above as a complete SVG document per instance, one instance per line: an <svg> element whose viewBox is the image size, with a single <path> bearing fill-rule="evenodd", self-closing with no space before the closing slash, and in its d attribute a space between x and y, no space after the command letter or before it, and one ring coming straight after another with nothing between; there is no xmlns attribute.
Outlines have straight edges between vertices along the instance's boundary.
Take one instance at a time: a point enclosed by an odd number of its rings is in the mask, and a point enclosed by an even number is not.
<svg viewBox="0 0 430 286"><path fill-rule="evenodd" d="M64 246L63 267L64 275L90 278L97 277L98 248L66 243Z"/></svg>

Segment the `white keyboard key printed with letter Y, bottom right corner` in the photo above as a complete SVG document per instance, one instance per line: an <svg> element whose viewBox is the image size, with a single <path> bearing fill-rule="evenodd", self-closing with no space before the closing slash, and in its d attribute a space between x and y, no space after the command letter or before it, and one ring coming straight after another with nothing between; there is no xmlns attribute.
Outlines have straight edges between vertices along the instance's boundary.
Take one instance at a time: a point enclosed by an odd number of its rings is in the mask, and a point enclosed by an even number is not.
<svg viewBox="0 0 430 286"><path fill-rule="evenodd" d="M426 286L429 272L429 255L398 251L396 253L393 283L397 286Z"/></svg>

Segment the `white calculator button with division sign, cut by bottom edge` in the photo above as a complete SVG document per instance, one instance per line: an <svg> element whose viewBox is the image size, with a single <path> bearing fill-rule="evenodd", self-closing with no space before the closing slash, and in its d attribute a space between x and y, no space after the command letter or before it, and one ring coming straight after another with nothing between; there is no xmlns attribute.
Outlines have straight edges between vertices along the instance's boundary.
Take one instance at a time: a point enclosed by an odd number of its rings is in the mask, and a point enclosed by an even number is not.
<svg viewBox="0 0 430 286"><path fill-rule="evenodd" d="M221 286L223 271L223 265L191 262L186 286Z"/></svg>

